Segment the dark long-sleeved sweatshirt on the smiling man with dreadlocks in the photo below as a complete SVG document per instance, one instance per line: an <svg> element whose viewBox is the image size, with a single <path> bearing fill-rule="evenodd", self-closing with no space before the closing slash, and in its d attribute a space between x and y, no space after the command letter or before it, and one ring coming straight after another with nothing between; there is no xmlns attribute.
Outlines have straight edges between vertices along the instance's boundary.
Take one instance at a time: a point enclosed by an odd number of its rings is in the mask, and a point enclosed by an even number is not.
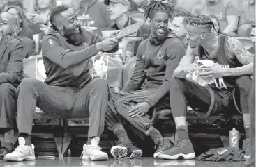
<svg viewBox="0 0 256 168"><path fill-rule="evenodd" d="M156 90L146 101L155 106L169 92L169 82L172 74L186 50L181 41L174 35L168 35L160 44L153 44L151 39L140 43L133 76L123 87L124 92L140 90Z"/></svg>

